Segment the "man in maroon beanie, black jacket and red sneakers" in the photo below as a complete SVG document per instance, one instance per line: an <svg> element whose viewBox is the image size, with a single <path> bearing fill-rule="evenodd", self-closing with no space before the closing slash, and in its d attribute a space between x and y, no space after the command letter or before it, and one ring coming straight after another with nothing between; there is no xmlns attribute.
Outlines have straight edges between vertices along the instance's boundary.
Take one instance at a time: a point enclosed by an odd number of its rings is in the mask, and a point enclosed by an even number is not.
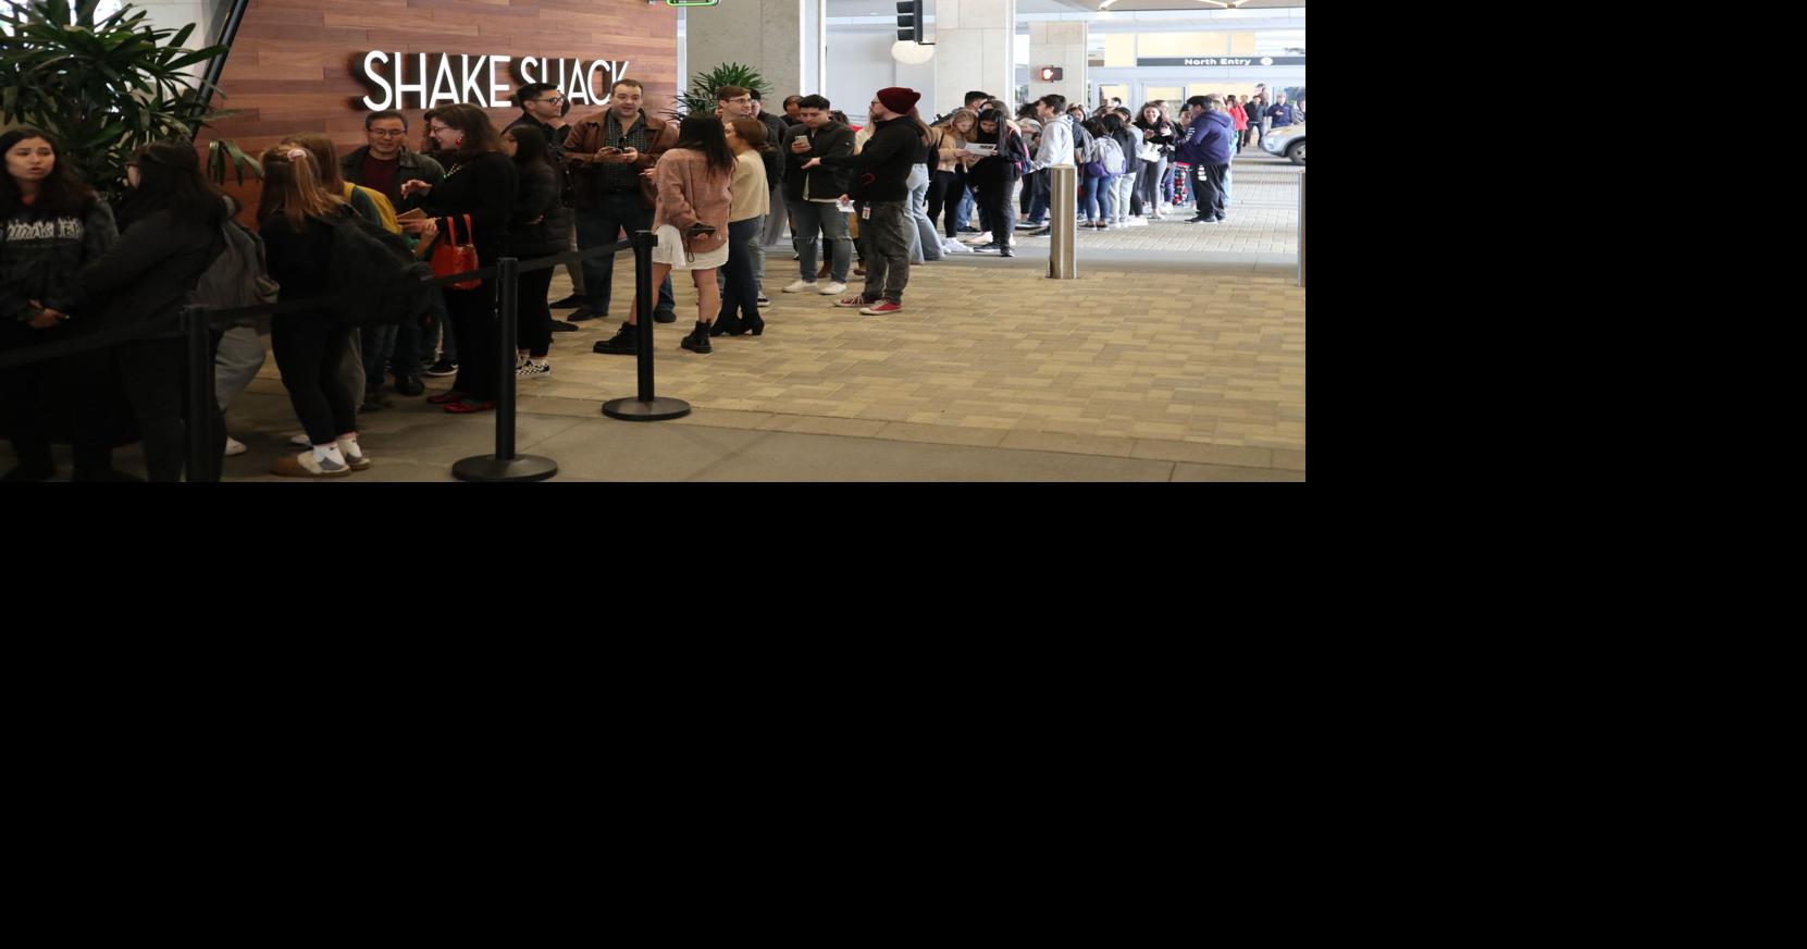
<svg viewBox="0 0 1807 949"><path fill-rule="evenodd" d="M866 240L866 293L835 300L837 307L860 307L867 316L904 309L909 284L909 239L916 224L909 215L909 172L925 148L927 130L914 117L914 89L880 89L873 99L873 137L858 155L826 155L804 168L828 164L851 168L847 197L860 208L860 240Z"/></svg>

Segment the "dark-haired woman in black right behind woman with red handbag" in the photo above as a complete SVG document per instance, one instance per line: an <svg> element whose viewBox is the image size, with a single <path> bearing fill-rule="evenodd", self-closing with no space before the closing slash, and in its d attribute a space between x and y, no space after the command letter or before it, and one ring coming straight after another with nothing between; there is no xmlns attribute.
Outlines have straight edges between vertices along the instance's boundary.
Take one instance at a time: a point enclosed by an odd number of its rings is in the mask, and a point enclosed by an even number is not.
<svg viewBox="0 0 1807 949"><path fill-rule="evenodd" d="M515 159L520 190L508 228L508 253L519 260L555 257L569 246L571 210L560 197L560 175L546 132L522 123L502 130L502 152ZM553 268L520 273L520 325L515 333L515 378L544 380L553 363L553 311L546 293L553 286Z"/></svg>

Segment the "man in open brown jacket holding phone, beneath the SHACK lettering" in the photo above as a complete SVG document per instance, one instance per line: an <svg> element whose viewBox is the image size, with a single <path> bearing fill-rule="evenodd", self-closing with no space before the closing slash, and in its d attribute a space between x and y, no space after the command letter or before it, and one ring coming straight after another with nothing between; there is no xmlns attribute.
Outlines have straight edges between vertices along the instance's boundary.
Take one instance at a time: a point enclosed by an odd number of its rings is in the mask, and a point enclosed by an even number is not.
<svg viewBox="0 0 1807 949"><path fill-rule="evenodd" d="M652 206L640 197L640 174L652 170L660 155L678 145L678 123L640 108L645 87L638 80L618 80L609 94L609 108L602 116L576 123L566 139L576 240L584 249L614 244L623 230L629 233L652 230ZM589 289L589 315L573 313L571 318L607 318L609 291L614 287L614 255L584 262L584 287ZM652 320L678 322L670 277L660 284L660 302L652 309Z"/></svg>

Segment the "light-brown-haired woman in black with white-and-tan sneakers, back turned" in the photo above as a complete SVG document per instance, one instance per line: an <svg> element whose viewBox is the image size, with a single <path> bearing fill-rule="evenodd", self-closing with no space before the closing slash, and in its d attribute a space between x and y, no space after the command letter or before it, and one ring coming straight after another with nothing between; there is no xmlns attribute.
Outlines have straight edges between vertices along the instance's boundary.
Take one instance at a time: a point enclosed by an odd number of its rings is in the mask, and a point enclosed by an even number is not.
<svg viewBox="0 0 1807 949"><path fill-rule="evenodd" d="M320 300L354 287L331 282L332 219L356 211L325 181L318 155L300 145L264 152L264 197L257 221L269 275L282 284L282 302ZM276 459L282 477L345 477L370 466L358 445L356 387L343 374L352 333L329 307L278 313L269 327L289 405L307 430L309 448Z"/></svg>

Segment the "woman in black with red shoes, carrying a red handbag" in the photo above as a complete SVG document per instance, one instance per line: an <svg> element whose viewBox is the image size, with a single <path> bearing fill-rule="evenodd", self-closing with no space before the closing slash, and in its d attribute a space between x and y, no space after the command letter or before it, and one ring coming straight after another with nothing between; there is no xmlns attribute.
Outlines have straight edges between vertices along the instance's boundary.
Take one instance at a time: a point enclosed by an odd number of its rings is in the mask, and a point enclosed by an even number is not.
<svg viewBox="0 0 1807 949"><path fill-rule="evenodd" d="M401 195L426 195L421 204L439 222L439 240L477 246L477 266L490 266L508 251L508 221L515 211L519 175L515 163L502 154L502 136L490 116L475 105L448 105L426 112L426 134L439 150L434 157L446 164L439 184L425 181L401 183ZM464 228L470 215L470 233ZM425 222L403 222L414 233ZM495 320L497 280L486 278L475 289L445 287L446 311L457 334L459 369L448 392L428 398L446 412L488 412L502 392L501 358L502 331Z"/></svg>

